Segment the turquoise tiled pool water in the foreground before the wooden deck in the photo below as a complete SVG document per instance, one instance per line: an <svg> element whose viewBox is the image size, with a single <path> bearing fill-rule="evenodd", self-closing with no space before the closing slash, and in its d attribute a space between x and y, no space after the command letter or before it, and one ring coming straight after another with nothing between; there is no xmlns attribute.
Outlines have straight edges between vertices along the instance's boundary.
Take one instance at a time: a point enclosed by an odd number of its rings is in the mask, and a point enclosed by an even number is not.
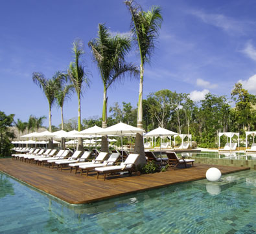
<svg viewBox="0 0 256 234"><path fill-rule="evenodd" d="M0 173L0 233L255 233L255 201L256 171L78 206Z"/></svg>

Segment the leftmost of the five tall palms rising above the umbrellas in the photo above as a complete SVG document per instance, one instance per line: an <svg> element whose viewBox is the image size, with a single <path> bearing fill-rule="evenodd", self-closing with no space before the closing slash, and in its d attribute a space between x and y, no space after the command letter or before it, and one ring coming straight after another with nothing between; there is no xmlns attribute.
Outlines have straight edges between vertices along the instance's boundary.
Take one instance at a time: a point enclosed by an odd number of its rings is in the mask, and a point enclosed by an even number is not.
<svg viewBox="0 0 256 234"><path fill-rule="evenodd" d="M32 80L36 85L40 87L41 90L43 90L43 94L45 94L45 97L47 98L48 104L49 104L49 131L52 131L52 114L51 109L52 105L55 101L55 89L56 89L56 80L55 79L47 79L45 76L39 72L34 72L32 74ZM52 149L52 139L49 139L49 149Z"/></svg>

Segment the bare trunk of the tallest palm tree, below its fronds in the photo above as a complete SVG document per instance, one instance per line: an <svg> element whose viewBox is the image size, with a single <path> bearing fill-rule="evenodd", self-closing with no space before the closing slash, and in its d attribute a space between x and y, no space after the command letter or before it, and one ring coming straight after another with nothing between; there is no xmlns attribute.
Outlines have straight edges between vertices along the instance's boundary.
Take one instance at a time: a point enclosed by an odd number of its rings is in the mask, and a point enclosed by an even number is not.
<svg viewBox="0 0 256 234"><path fill-rule="evenodd" d="M143 129L143 65L141 64L141 74L140 74L140 81L139 81L139 102L138 102L138 112L137 112L137 127ZM146 158L145 158L145 151L144 151L144 143L143 143L143 134L137 133L135 139L135 146L134 152L139 154L139 158L136 162L136 165L145 165Z"/></svg>

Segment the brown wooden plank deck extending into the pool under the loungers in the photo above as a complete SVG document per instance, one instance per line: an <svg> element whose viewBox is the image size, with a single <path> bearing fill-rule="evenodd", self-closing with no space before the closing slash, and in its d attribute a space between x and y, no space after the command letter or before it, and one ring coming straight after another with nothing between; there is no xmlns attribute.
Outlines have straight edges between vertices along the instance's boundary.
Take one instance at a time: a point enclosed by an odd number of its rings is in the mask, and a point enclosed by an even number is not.
<svg viewBox="0 0 256 234"><path fill-rule="evenodd" d="M118 197L128 193L145 191L157 187L169 186L205 178L205 172L213 165L195 164L194 167L169 169L164 173L137 176L110 176L97 180L96 173L80 176L69 169L60 171L39 165L12 160L0 159L0 171L34 186L41 191L58 197L71 204L84 204ZM222 174L250 169L250 167L227 167L217 165Z"/></svg>

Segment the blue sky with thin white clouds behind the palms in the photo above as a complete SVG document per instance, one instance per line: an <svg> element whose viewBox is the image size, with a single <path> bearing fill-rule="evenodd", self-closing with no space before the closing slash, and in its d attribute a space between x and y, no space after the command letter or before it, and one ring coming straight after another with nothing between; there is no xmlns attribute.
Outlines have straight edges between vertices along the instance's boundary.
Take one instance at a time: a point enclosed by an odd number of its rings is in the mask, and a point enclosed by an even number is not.
<svg viewBox="0 0 256 234"><path fill-rule="evenodd" d="M150 65L145 67L143 96L161 89L191 94L230 96L237 81L256 94L256 2L254 0L141 0L143 10L161 6L163 25ZM72 61L71 43L84 41L91 87L82 98L82 118L101 116L103 86L87 42L99 23L113 32L129 31L130 15L121 0L3 1L0 8L0 111L27 121L48 116L47 100L32 82L32 72L51 78ZM132 50L128 61L139 64ZM108 90L108 107L115 101L135 107L139 81L127 78ZM64 105L64 118L77 116L74 94ZM45 125L47 125L45 121ZM52 110L60 124L60 109Z"/></svg>

